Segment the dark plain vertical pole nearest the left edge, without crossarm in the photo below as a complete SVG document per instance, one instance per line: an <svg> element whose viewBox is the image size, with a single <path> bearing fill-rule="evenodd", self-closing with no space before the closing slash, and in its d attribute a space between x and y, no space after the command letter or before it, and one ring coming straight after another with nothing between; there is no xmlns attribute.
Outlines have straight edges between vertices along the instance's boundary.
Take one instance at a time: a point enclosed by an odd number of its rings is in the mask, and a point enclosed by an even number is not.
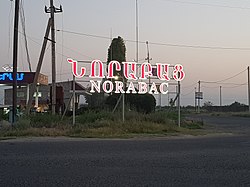
<svg viewBox="0 0 250 187"><path fill-rule="evenodd" d="M15 1L15 19L14 19L14 41L13 41L13 99L12 99L12 125L16 120L17 112L17 55L18 55L18 21L19 21L19 4Z"/></svg>

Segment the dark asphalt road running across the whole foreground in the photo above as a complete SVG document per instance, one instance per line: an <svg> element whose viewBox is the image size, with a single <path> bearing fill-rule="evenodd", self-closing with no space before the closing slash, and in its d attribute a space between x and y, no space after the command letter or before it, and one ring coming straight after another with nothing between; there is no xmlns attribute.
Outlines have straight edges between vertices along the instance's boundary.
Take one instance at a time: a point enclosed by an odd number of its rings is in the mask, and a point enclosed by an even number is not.
<svg viewBox="0 0 250 187"><path fill-rule="evenodd" d="M250 186L250 138L4 140L0 186Z"/></svg>

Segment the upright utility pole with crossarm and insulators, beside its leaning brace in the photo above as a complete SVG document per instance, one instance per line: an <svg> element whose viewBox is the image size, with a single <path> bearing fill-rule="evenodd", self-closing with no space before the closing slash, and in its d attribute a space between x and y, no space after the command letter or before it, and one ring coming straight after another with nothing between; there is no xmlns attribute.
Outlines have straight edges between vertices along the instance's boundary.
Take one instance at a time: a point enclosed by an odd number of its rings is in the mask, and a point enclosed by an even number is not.
<svg viewBox="0 0 250 187"><path fill-rule="evenodd" d="M54 0L50 0L50 7L47 8L45 6L45 12L50 13L51 18L51 51L52 51L52 114L55 115L56 113L56 46L55 46L55 19L54 14L62 12L62 6L60 8L54 7Z"/></svg>

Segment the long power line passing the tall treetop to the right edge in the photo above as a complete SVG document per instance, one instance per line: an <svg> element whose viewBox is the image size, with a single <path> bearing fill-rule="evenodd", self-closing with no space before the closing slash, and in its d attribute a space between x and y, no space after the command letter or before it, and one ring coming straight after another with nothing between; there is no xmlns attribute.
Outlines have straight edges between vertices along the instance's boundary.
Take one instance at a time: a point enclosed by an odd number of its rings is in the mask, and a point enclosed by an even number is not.
<svg viewBox="0 0 250 187"><path fill-rule="evenodd" d="M108 39L110 40L110 37L107 36L100 36L100 35L93 35L93 34L86 34L86 33L79 33L74 31L68 31L68 30L57 30L69 34L75 34L75 35L81 35L81 36L87 36L87 37L93 37L93 38L100 38L100 39ZM135 43L135 40L128 40L124 39L125 42L133 42ZM146 42L138 41L140 44L145 44ZM186 45L186 44L173 44L173 43L158 43L158 42L149 42L150 45L158 45L158 46L167 46L167 47L181 47L181 48L194 48L194 49L213 49L213 50L242 50L242 51L249 51L250 48L244 48L244 47L220 47L220 46L202 46L202 45Z"/></svg>

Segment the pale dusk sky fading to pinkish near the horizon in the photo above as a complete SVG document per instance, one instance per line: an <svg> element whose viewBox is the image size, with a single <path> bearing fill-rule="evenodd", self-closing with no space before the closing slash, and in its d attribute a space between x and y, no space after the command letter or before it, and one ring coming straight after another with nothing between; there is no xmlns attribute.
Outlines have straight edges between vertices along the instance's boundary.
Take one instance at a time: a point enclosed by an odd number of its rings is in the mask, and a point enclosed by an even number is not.
<svg viewBox="0 0 250 187"><path fill-rule="evenodd" d="M121 36L124 40L136 40L136 0L54 0L54 4L63 7L63 12L55 15L56 29L60 30L56 32L57 81L72 79L67 57L105 62L111 38ZM49 18L44 7L49 6L49 0L22 0L22 6L32 70L35 71ZM14 1L1 0L1 66L12 64L13 17ZM195 87L198 89L199 80L204 94L202 104L211 101L219 105L220 86L223 105L235 101L248 103L250 1L138 0L138 20L140 62L147 57L148 41L152 64L184 66L186 77L181 83L181 105L194 105L194 91ZM19 31L18 68L28 71L21 27ZM136 43L126 41L125 44L127 61L135 60ZM49 80L50 49L49 44L41 71ZM169 87L169 91L174 90L175 86ZM173 94L169 96L172 97ZM167 100L167 96L162 96L161 104L167 105Z"/></svg>

